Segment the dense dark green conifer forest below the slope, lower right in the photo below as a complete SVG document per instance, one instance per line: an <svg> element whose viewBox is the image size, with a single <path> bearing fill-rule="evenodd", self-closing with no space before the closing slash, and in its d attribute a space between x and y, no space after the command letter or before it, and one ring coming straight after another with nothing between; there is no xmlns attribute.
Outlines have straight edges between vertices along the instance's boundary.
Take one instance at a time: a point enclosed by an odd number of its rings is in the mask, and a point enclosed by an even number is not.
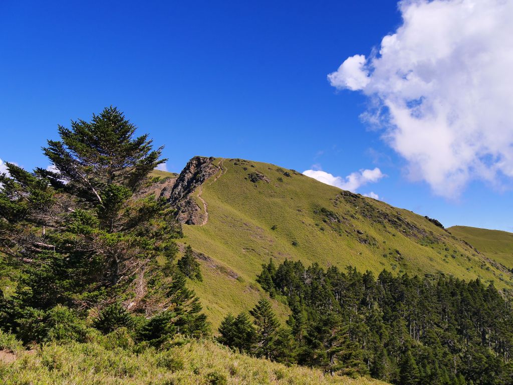
<svg viewBox="0 0 513 385"><path fill-rule="evenodd" d="M399 385L507 384L513 375L513 313L493 284L288 260L274 271L299 363Z"/></svg>

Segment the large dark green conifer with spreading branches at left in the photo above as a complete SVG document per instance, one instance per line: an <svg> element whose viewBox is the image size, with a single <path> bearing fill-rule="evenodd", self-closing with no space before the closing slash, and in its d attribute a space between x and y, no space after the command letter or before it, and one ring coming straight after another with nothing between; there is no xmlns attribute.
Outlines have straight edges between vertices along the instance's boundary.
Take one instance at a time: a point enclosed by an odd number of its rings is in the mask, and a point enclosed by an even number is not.
<svg viewBox="0 0 513 385"><path fill-rule="evenodd" d="M208 328L198 299L176 268L156 263L174 259L181 234L173 209L145 193L154 182L150 172L166 161L163 147L154 149L135 130L117 108L105 108L89 122L58 127L61 139L43 148L49 169L7 165L9 176L0 176L0 253L24 266L16 303L22 313L57 304L87 309L133 290L133 310L171 312L161 318L201 335ZM144 284L148 276L158 291ZM13 328L22 313L12 316Z"/></svg>

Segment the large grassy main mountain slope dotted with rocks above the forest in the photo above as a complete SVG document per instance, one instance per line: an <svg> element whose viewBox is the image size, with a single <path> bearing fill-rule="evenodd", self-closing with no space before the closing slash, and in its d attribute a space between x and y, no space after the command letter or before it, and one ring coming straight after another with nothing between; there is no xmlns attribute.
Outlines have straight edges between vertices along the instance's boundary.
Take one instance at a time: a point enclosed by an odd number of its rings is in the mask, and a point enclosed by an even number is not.
<svg viewBox="0 0 513 385"><path fill-rule="evenodd" d="M208 221L184 225L183 242L205 254L204 281L191 284L214 327L226 313L250 309L265 295L255 278L269 258L511 285L506 269L411 211L272 164L221 158L212 163L218 173L192 193L201 210L208 207ZM286 313L280 303L275 309Z"/></svg>

